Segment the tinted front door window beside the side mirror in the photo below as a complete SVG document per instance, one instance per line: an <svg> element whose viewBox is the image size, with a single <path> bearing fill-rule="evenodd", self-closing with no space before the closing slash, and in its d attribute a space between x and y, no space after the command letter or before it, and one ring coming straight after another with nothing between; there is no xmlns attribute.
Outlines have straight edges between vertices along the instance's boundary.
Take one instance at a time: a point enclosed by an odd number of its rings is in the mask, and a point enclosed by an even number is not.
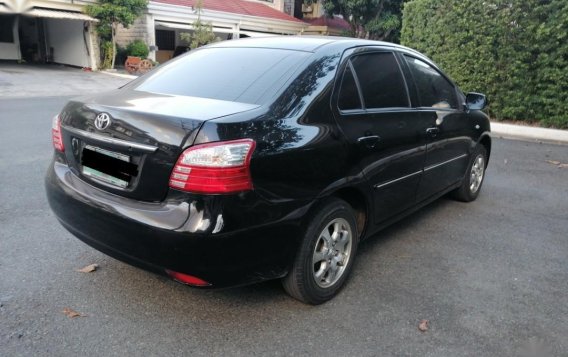
<svg viewBox="0 0 568 357"><path fill-rule="evenodd" d="M455 87L440 72L424 61L406 57L418 89L421 106L442 109L457 109Z"/></svg>

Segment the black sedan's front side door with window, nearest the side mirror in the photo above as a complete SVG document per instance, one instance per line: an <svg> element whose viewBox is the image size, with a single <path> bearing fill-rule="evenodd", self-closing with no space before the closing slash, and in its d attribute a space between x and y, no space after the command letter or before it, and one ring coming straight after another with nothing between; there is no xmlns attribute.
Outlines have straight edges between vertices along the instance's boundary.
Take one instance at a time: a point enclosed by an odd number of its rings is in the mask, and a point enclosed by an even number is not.
<svg viewBox="0 0 568 357"><path fill-rule="evenodd" d="M425 60L403 57L416 86L420 114L427 123L424 174L416 197L422 201L462 179L472 140L455 85Z"/></svg>

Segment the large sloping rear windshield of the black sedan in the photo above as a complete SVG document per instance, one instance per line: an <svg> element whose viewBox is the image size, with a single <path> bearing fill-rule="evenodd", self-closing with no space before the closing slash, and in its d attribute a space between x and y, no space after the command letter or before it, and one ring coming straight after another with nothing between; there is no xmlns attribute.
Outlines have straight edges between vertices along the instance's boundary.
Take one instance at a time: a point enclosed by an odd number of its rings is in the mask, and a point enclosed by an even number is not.
<svg viewBox="0 0 568 357"><path fill-rule="evenodd" d="M270 48L205 48L158 67L136 90L262 104L311 53ZM265 97L266 98L266 97Z"/></svg>

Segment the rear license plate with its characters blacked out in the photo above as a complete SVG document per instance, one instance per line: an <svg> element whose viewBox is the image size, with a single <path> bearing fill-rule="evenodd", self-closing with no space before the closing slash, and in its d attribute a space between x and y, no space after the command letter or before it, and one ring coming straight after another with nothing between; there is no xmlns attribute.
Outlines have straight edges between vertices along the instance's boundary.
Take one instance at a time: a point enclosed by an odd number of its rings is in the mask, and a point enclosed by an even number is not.
<svg viewBox="0 0 568 357"><path fill-rule="evenodd" d="M81 163L83 175L120 188L138 174L130 156L92 145L83 148Z"/></svg>

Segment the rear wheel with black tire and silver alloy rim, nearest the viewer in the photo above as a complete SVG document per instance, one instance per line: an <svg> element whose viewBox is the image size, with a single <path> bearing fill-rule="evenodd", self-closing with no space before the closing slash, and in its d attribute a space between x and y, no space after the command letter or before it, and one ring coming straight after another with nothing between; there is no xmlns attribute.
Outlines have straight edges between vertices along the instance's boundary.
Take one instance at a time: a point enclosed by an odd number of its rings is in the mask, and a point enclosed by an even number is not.
<svg viewBox="0 0 568 357"><path fill-rule="evenodd" d="M333 298L345 284L359 234L349 204L332 198L312 216L304 239L282 285L292 297L317 305Z"/></svg>

